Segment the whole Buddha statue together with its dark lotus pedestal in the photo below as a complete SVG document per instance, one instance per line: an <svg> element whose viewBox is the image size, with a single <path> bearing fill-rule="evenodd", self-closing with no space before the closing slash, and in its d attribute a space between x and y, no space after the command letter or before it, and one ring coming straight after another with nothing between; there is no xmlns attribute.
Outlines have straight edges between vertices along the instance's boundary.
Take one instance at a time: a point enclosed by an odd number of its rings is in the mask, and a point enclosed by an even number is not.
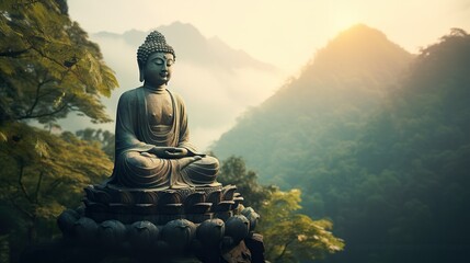
<svg viewBox="0 0 470 263"><path fill-rule="evenodd" d="M259 215L237 186L216 181L217 159L190 142L183 100L167 89L173 48L154 31L137 61L144 84L119 98L113 174L58 217L66 242L57 248L70 248L71 261L82 251L93 262L264 262Z"/></svg>

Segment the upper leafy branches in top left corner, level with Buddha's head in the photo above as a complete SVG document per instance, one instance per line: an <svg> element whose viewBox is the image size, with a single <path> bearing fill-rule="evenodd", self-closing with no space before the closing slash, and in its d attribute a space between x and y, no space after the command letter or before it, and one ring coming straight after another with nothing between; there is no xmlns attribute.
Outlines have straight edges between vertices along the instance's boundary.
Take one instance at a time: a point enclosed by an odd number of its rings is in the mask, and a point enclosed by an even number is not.
<svg viewBox="0 0 470 263"><path fill-rule="evenodd" d="M66 1L1 1L0 36L0 123L50 123L70 112L111 121L100 96L117 81Z"/></svg>

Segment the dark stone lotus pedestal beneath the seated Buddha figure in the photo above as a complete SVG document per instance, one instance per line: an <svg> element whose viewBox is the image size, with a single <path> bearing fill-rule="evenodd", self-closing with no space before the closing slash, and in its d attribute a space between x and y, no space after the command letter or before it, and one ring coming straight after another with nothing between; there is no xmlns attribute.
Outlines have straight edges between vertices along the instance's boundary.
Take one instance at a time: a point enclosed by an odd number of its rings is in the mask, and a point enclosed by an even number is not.
<svg viewBox="0 0 470 263"><path fill-rule="evenodd" d="M95 262L110 256L264 262L262 238L254 233L259 215L242 201L233 185L163 191L91 185L84 206L65 210L58 225L65 250L82 250L80 256L94 255Z"/></svg>

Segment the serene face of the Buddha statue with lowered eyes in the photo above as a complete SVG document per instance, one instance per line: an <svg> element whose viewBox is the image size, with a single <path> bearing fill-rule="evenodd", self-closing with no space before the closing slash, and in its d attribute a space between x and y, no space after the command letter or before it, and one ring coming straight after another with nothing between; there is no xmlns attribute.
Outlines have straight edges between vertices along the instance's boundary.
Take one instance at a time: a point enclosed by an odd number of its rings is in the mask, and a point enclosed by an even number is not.
<svg viewBox="0 0 470 263"><path fill-rule="evenodd" d="M170 53L153 53L144 67L146 84L161 87L171 78L174 58Z"/></svg>

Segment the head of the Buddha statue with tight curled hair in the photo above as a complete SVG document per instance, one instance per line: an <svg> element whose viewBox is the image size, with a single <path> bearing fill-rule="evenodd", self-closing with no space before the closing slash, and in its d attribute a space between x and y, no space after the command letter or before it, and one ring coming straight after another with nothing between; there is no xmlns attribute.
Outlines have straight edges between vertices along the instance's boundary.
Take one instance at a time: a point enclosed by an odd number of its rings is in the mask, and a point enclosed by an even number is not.
<svg viewBox="0 0 470 263"><path fill-rule="evenodd" d="M137 62L139 65L140 81L152 81L152 77L159 77L156 70L167 70L167 82L171 77L171 66L176 56L173 47L167 44L164 36L158 32L151 32L142 45L137 49ZM151 76L153 75L153 76ZM158 81L158 80L156 80Z"/></svg>

